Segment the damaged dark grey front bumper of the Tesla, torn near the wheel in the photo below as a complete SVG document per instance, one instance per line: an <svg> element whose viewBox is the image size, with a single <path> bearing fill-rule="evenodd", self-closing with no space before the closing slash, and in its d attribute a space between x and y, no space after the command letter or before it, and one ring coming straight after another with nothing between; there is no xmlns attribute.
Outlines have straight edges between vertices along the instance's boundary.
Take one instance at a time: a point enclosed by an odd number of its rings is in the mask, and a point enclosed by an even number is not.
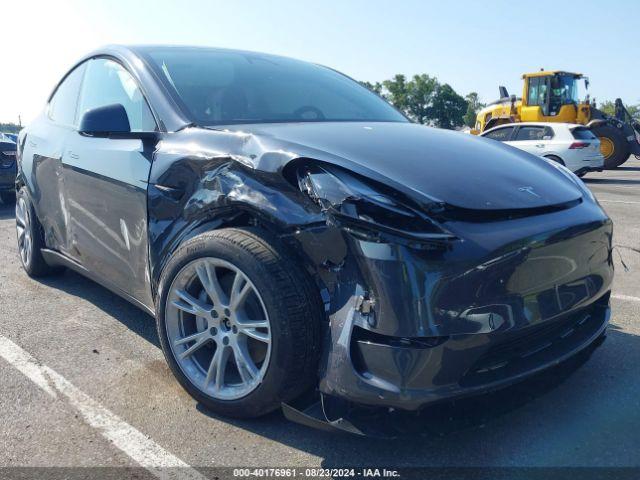
<svg viewBox="0 0 640 480"><path fill-rule="evenodd" d="M447 227L462 240L422 250L299 233L321 267L329 326L321 401L285 406L289 418L361 433L354 405L419 411L522 380L603 336L612 224L597 205Z"/></svg>

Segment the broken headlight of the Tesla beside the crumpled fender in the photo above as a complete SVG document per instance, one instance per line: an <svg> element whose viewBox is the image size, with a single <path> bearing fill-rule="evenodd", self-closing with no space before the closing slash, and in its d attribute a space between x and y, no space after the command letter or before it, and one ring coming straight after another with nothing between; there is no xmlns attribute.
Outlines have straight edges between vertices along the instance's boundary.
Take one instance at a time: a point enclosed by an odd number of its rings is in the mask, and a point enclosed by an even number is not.
<svg viewBox="0 0 640 480"><path fill-rule="evenodd" d="M455 237L400 195L355 174L331 167L298 170L298 186L332 224L373 241L442 242ZM440 208L438 206L438 208Z"/></svg>

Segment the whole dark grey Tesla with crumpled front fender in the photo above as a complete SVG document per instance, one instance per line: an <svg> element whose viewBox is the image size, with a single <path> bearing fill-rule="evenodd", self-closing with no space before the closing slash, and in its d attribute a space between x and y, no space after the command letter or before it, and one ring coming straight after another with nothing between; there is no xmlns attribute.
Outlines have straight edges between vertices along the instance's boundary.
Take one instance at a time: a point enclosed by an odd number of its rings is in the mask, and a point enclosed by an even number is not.
<svg viewBox="0 0 640 480"><path fill-rule="evenodd" d="M354 406L498 388L604 335L612 223L580 180L329 68L108 47L19 146L27 273L72 268L154 315L222 414L305 418L292 402L315 392L356 430Z"/></svg>

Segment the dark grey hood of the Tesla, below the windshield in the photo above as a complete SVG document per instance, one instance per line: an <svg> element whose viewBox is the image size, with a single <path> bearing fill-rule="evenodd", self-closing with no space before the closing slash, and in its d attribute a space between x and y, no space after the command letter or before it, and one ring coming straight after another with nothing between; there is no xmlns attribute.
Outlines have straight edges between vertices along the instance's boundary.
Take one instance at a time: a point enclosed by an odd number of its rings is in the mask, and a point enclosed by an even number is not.
<svg viewBox="0 0 640 480"><path fill-rule="evenodd" d="M411 123L318 122L225 127L271 148L359 166L390 186L481 210L572 202L579 188L544 160L497 141ZM376 175L377 176L377 175Z"/></svg>

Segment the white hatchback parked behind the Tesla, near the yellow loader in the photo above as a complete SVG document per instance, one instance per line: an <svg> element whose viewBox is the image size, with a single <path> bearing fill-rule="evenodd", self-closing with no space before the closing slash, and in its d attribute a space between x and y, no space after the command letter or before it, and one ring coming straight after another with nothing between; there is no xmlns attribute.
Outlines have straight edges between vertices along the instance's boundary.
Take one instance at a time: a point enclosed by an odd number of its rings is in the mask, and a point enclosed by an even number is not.
<svg viewBox="0 0 640 480"><path fill-rule="evenodd" d="M580 177L600 172L604 166L600 140L584 125L511 123L491 128L481 136L554 160Z"/></svg>

